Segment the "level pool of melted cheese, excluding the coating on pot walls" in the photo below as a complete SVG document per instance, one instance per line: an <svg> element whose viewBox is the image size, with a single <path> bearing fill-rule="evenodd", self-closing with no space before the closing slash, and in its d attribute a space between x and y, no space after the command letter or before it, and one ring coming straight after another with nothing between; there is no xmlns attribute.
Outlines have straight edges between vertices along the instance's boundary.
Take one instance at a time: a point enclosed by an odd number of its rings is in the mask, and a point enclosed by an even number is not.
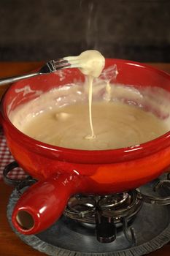
<svg viewBox="0 0 170 256"><path fill-rule="evenodd" d="M93 128L96 138L86 140L88 104L82 102L31 118L22 132L55 146L87 150L132 146L167 132L167 127L152 113L121 102L93 102Z"/></svg>

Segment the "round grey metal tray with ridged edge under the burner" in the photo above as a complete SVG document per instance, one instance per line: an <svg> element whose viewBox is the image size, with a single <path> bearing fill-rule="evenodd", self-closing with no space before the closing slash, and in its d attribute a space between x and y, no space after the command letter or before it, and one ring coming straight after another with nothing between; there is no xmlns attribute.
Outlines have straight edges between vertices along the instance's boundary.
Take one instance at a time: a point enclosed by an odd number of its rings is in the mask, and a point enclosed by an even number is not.
<svg viewBox="0 0 170 256"><path fill-rule="evenodd" d="M140 190L143 193L152 193L155 181L144 185ZM163 188L156 192L158 195L169 195L169 189ZM10 225L12 209L19 196L15 189L9 198L7 218ZM91 255L99 253L109 256L140 256L161 248L170 241L170 206L158 206L143 203L142 209L134 219L132 227L136 236L136 246L131 246L123 235L123 231L117 231L116 241L109 244L101 244L96 240L95 230L81 225L74 219L61 217L58 222L36 236L23 236L12 226L15 233L26 244L34 249L44 252L46 255Z"/></svg>

